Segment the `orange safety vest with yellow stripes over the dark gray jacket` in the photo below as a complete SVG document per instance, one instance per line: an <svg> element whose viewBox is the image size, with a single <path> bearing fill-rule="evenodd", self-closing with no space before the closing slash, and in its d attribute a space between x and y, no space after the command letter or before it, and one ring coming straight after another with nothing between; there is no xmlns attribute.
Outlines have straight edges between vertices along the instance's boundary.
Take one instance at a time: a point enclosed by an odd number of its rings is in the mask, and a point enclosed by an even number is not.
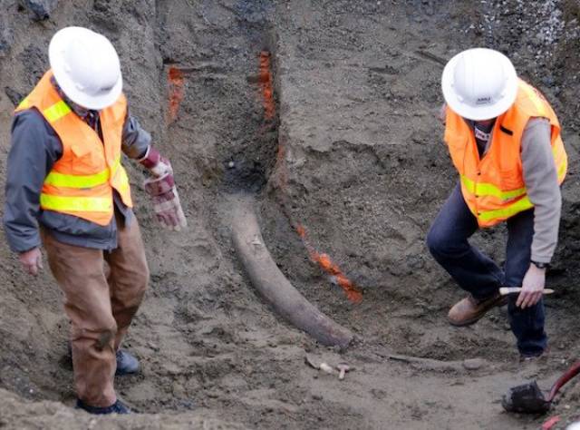
<svg viewBox="0 0 580 430"><path fill-rule="evenodd" d="M36 108L63 143L63 156L48 173L40 207L106 226L113 216L113 189L132 207L127 172L121 166L121 135L127 101L121 94L99 112L102 137L64 103L51 83L52 71L18 105L15 112Z"/></svg>

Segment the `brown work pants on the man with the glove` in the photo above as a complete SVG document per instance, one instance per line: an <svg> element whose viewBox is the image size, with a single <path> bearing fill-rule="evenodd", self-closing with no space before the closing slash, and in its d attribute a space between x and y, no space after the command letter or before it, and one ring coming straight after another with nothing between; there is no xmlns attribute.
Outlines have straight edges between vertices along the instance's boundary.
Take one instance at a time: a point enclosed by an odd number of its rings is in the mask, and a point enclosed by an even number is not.
<svg viewBox="0 0 580 430"><path fill-rule="evenodd" d="M111 252L67 245L43 231L48 262L71 320L76 393L83 403L97 407L117 400L115 352L149 281L137 220L133 217L125 228L118 225L118 248Z"/></svg>

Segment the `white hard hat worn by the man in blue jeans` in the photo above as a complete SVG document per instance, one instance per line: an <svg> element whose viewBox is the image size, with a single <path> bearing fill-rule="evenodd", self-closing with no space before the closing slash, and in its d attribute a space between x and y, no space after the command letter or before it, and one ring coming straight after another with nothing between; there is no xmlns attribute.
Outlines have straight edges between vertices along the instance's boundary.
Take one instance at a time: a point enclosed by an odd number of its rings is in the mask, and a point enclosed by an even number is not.
<svg viewBox="0 0 580 430"><path fill-rule="evenodd" d="M506 55L473 48L449 60L441 87L452 111L468 120L496 118L516 100L517 73Z"/></svg>

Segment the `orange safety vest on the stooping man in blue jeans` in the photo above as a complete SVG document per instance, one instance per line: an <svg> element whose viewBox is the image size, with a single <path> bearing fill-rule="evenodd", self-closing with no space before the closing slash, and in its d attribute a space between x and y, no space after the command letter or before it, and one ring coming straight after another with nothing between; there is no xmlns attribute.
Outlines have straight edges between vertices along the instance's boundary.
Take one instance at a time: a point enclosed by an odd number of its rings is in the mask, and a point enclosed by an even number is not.
<svg viewBox="0 0 580 430"><path fill-rule="evenodd" d="M521 141L530 118L549 120L551 143L558 182L567 168L560 123L544 96L533 86L519 80L516 102L498 116L488 152L479 159L475 135L468 123L447 108L445 142L453 164L459 171L461 192L480 227L490 227L534 207L528 199L522 174Z"/></svg>

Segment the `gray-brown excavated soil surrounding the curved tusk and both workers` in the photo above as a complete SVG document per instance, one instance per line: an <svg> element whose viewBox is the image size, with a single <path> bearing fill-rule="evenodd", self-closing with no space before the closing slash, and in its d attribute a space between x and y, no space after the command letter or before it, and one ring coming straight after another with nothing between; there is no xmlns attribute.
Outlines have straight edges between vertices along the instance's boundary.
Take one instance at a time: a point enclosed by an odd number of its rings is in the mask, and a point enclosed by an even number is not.
<svg viewBox="0 0 580 430"><path fill-rule="evenodd" d="M533 429L546 419L507 415L499 399L530 378L548 388L580 352L575 0L62 0L43 21L25 5L0 0L2 159L52 34L91 27L121 55L131 112L172 161L189 228L160 230L144 173L126 161L151 284L125 344L142 373L116 381L141 414L122 417L71 407L62 295L47 270L24 275L2 245L0 427ZM440 73L472 46L506 53L546 94L570 158L547 280L550 354L525 366L505 309L449 327L462 294L424 246L457 180L437 119ZM318 345L256 295L231 242L242 194L256 197L279 268L356 333L352 347ZM501 262L503 228L474 240ZM361 303L316 264L322 253ZM339 381L306 356L354 370ZM580 416L579 398L580 385L564 389L555 428Z"/></svg>

